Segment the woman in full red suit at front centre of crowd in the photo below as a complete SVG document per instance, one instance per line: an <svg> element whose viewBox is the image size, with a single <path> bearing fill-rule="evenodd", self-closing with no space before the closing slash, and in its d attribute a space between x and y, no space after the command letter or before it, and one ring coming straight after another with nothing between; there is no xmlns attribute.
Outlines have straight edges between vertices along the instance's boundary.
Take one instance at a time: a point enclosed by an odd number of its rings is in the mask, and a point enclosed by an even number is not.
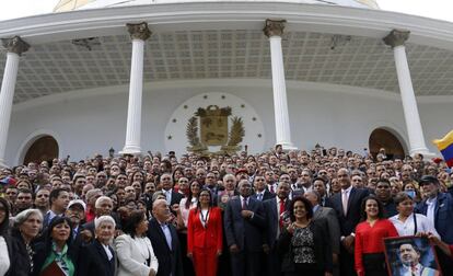
<svg viewBox="0 0 453 276"><path fill-rule="evenodd" d="M217 275L218 257L222 253L222 228L220 208L212 206L209 189L202 189L187 223L187 256L193 260L197 276Z"/></svg>

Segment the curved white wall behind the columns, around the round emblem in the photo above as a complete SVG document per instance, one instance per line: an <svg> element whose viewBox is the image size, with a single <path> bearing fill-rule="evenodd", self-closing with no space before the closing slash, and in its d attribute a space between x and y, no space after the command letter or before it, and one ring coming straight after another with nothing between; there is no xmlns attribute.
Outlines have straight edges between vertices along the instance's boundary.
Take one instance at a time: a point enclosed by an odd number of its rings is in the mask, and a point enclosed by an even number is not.
<svg viewBox="0 0 453 276"><path fill-rule="evenodd" d="M288 82L292 142L312 149L316 142L361 152L376 127L388 127L407 142L398 94L323 83ZM60 146L60 157L83 159L107 154L124 147L127 87L72 91L14 105L7 145L7 162L16 164L33 134L50 131ZM147 83L143 93L142 149L166 152L165 127L172 114L201 93L230 93L249 104L264 125L264 150L275 143L275 119L269 80L198 80ZM439 97L440 99L440 97ZM443 103L418 99L427 146L452 129L452 97ZM200 107L204 106L200 103ZM188 118L187 118L188 119ZM247 129L245 129L247 131ZM181 137L183 143L185 137Z"/></svg>

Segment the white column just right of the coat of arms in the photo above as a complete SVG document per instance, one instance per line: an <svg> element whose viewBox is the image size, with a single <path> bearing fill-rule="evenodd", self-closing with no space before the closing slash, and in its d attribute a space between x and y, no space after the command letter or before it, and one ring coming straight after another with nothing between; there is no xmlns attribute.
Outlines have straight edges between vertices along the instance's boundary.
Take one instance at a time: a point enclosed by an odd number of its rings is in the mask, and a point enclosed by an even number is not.
<svg viewBox="0 0 453 276"><path fill-rule="evenodd" d="M281 50L281 35L283 33L284 22L286 21L266 20L266 26L263 31L265 35L269 37L270 43L276 143L281 145L284 150L292 150L295 149L295 147L291 142L283 51Z"/></svg>

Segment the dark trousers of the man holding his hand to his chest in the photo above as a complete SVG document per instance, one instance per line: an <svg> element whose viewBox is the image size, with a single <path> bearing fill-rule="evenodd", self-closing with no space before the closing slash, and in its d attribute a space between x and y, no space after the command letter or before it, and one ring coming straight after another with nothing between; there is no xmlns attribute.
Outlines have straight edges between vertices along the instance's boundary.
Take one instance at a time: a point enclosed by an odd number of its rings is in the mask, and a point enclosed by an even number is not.
<svg viewBox="0 0 453 276"><path fill-rule="evenodd" d="M259 269L259 252L240 251L231 254L233 276L258 276Z"/></svg>

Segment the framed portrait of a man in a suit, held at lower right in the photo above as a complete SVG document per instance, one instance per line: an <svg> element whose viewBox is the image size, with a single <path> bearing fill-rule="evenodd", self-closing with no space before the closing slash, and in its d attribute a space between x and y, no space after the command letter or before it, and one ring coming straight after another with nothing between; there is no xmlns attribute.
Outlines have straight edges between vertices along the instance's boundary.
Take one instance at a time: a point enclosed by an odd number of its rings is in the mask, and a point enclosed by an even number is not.
<svg viewBox="0 0 453 276"><path fill-rule="evenodd" d="M384 239L390 276L438 276L441 268L434 248L426 237Z"/></svg>

